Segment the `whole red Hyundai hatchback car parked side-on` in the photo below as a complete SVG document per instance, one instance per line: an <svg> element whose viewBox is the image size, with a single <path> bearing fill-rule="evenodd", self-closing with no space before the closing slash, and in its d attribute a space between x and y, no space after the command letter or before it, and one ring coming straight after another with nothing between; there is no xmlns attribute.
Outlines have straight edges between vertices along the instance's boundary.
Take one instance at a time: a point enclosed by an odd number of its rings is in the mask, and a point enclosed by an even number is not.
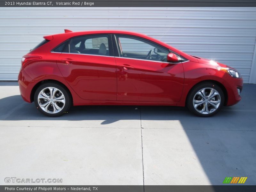
<svg viewBox="0 0 256 192"><path fill-rule="evenodd" d="M47 116L77 105L187 106L212 116L241 100L234 68L127 31L65 30L21 60L20 93Z"/></svg>

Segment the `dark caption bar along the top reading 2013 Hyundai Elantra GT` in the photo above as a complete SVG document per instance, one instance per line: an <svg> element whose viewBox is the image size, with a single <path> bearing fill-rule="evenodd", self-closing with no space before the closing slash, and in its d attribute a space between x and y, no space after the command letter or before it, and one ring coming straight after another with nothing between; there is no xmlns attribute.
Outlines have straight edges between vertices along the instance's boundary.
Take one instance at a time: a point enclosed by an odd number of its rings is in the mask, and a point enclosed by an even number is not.
<svg viewBox="0 0 256 192"><path fill-rule="evenodd" d="M256 7L256 0L0 0L0 7Z"/></svg>

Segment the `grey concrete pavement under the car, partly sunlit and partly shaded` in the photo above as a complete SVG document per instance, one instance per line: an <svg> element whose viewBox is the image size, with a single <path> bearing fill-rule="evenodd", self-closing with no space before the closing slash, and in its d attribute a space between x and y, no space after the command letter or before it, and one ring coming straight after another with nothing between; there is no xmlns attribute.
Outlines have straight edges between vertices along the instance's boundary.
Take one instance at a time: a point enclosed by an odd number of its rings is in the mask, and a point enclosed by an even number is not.
<svg viewBox="0 0 256 192"><path fill-rule="evenodd" d="M248 177L256 184L256 85L245 84L241 102L210 118L161 106L79 106L50 118L21 99L17 83L1 82L0 93L1 185L5 177L61 178L62 185L221 185Z"/></svg>

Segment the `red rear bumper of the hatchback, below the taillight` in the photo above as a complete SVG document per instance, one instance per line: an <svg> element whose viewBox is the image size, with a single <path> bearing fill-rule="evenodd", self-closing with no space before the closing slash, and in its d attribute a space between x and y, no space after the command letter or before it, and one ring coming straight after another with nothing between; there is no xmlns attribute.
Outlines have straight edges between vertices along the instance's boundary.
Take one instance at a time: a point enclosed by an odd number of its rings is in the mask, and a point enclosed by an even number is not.
<svg viewBox="0 0 256 192"><path fill-rule="evenodd" d="M18 76L20 95L22 99L28 103L31 103L30 101L30 93L32 90L32 88L30 87L31 81L32 79L28 76L28 74L23 69L20 69L20 73Z"/></svg>

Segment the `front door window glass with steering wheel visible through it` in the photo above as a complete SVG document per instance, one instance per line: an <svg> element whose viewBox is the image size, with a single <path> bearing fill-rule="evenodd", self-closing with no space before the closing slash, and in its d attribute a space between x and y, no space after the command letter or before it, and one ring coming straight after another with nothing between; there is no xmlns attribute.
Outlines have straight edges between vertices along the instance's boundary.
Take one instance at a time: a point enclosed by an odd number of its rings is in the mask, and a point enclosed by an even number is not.
<svg viewBox="0 0 256 192"><path fill-rule="evenodd" d="M120 57L166 62L169 50L161 46L130 36L116 36Z"/></svg>

